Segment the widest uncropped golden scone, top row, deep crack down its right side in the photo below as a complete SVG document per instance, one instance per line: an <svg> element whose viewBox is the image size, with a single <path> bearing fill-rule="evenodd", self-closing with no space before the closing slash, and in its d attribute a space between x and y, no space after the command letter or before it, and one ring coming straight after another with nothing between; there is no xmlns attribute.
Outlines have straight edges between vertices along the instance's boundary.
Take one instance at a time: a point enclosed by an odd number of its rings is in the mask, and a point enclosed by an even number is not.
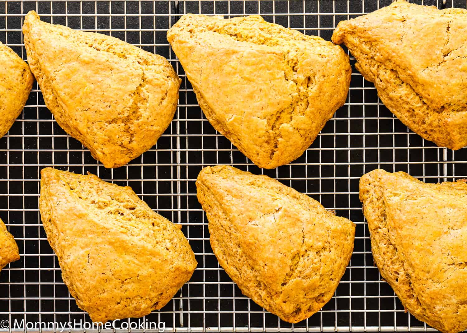
<svg viewBox="0 0 467 333"><path fill-rule="evenodd" d="M206 118L259 167L297 159L347 97L339 46L258 15L186 14L167 39Z"/></svg>

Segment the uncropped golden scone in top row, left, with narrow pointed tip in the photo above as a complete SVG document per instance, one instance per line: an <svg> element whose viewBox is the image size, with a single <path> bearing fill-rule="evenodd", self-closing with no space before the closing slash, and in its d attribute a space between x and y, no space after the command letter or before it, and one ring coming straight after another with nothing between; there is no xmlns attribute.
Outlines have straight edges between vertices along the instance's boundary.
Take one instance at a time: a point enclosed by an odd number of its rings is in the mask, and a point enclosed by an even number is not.
<svg viewBox="0 0 467 333"><path fill-rule="evenodd" d="M45 104L105 167L140 156L170 125L181 80L164 57L117 38L42 22L32 11L23 34Z"/></svg>

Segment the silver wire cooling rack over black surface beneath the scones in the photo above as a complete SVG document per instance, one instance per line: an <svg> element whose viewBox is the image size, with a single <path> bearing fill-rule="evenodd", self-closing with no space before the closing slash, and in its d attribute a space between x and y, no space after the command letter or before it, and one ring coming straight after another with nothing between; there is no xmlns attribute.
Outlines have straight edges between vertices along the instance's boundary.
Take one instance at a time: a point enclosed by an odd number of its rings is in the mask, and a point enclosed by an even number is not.
<svg viewBox="0 0 467 333"><path fill-rule="evenodd" d="M381 104L374 86L354 69L347 103L303 156L290 165L261 170L205 119L165 37L167 29L184 13L262 14L267 21L330 40L340 20L389 3L390 0L0 1L0 41L23 59L26 52L21 24L24 14L34 9L44 21L110 34L163 55L183 79L177 113L157 145L129 165L113 170L98 164L57 125L35 83L24 112L8 135L0 139L0 217L15 236L21 253L21 260L0 274L0 330L36 332L37 326L31 329L30 325L41 323L43 332L59 332L61 327L50 327L50 323L68 322L73 324L71 331L93 332L96 328L89 328L89 317L78 309L63 284L57 258L41 225L39 174L46 166L75 173L89 171L104 180L129 185L151 208L183 225L198 268L168 305L144 319L146 323L164 323L166 332L432 330L404 312L374 267L368 227L358 198L358 181L363 173L376 167L402 170L426 182L467 177L467 148L456 152L438 148L410 132ZM444 6L442 0L425 0L425 4ZM466 8L466 0L448 0L446 7L452 6ZM354 64L354 59L351 62ZM295 325L279 320L243 296L219 268L195 187L201 168L215 164L265 173L356 223L349 267L334 297L310 319ZM29 327L15 327L15 320L20 325L24 320ZM116 325L122 329L117 331L129 331L126 325L133 327L131 332L154 331L151 329L155 327L149 325L134 328L135 323L138 319L122 320ZM65 331L69 328L66 326Z"/></svg>

